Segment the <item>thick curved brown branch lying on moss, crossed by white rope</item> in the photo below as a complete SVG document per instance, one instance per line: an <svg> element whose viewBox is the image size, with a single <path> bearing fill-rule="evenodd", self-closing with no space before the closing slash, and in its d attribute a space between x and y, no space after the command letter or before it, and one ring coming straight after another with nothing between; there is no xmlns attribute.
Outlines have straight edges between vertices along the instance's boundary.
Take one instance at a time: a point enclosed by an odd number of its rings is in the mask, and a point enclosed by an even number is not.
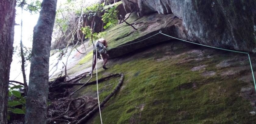
<svg viewBox="0 0 256 124"><path fill-rule="evenodd" d="M89 120L90 117L92 117L94 115L94 113L96 113L99 110L99 107L102 107L103 105L105 105L106 102L108 102L108 100L120 89L120 87L123 85L123 80L124 80L124 74L121 73L121 79L118 83L118 85L116 86L116 88L114 89L114 91L108 95L100 104L100 106L97 106L96 108L94 108L91 112L89 112L84 118L80 119L78 122L76 122L76 124L80 124L82 122L86 122Z"/></svg>

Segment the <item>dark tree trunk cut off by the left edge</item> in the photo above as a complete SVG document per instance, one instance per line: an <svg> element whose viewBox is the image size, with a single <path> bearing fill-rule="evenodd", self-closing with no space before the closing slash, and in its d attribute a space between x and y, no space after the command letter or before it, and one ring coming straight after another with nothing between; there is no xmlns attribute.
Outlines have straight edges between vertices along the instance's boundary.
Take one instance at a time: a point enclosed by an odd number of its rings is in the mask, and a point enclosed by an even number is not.
<svg viewBox="0 0 256 124"><path fill-rule="evenodd" d="M15 0L0 1L0 124L7 124L9 75L12 62Z"/></svg>

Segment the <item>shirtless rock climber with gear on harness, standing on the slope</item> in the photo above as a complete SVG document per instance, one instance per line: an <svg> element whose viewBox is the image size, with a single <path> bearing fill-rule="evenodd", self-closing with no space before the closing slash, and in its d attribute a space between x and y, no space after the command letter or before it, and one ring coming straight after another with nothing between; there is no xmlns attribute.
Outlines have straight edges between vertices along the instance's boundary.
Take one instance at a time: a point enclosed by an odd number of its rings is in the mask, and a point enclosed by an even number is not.
<svg viewBox="0 0 256 124"><path fill-rule="evenodd" d="M95 68L96 65L96 59L100 59L101 60L101 56L103 58L103 65L102 68L104 68L105 70L108 69L106 67L106 63L108 61L108 54L106 51L106 48L108 47L107 41L104 38L101 38L99 40L96 41L94 49L93 49L93 62L92 62L92 70L90 72L90 75L93 73L93 70ZM97 53L97 57L96 57L96 52Z"/></svg>

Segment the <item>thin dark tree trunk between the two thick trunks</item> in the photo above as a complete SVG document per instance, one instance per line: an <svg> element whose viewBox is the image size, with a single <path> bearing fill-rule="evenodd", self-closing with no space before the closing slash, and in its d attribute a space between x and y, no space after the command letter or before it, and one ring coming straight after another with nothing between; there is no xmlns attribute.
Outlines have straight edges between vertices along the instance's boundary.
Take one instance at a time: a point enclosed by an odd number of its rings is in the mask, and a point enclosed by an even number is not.
<svg viewBox="0 0 256 124"><path fill-rule="evenodd" d="M24 2L24 1L23 1ZM20 35L20 56L21 56L21 71L23 75L23 83L24 83L24 95L27 96L27 79L26 79L26 73L25 73L25 58L24 58L24 53L23 53L23 43L22 43L22 15L23 15L23 2L21 4L21 35Z"/></svg>

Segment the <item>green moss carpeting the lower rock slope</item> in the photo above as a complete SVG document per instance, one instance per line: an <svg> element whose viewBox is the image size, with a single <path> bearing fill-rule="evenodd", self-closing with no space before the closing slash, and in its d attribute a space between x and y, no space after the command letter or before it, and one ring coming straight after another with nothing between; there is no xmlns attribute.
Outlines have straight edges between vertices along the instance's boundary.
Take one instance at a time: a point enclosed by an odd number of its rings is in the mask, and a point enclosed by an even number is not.
<svg viewBox="0 0 256 124"><path fill-rule="evenodd" d="M230 55L216 54L212 58L182 64L178 62L188 56L164 61L152 59L156 56L161 58L164 54L133 58L128 62L112 64L108 70L99 70L98 78L105 77L106 74L125 73L122 90L101 111L104 123L256 122L256 118L249 113L252 111L250 102L237 95L247 83L238 81L238 77L203 77L201 72L190 71L203 64L208 65L206 71L223 71L215 69L215 66L224 59L231 58ZM86 82L87 79L81 82ZM116 77L98 84L100 101L113 91L118 81L119 77ZM197 88L192 88L193 84ZM96 91L96 85L91 85L79 91L76 96L88 92L97 93ZM99 114L94 116L91 123L100 123Z"/></svg>

